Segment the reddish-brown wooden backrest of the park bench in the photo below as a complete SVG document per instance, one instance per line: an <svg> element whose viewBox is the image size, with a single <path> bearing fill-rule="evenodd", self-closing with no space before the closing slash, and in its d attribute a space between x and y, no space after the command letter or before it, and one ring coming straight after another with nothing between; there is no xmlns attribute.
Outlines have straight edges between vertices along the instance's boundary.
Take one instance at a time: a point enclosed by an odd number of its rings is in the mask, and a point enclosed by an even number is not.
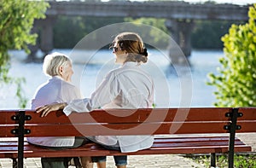
<svg viewBox="0 0 256 168"><path fill-rule="evenodd" d="M44 118L32 110L0 110L0 137L17 136L23 118L25 136L104 136L226 133L232 117L236 132L256 132L255 107L108 109L68 117L57 111Z"/></svg>

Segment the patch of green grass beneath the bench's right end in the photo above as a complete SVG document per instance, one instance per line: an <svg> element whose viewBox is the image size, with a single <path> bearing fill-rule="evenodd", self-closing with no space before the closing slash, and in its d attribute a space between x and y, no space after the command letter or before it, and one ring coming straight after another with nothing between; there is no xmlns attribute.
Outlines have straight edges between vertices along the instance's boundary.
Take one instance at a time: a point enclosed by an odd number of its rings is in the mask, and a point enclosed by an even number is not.
<svg viewBox="0 0 256 168"><path fill-rule="evenodd" d="M187 156L195 162L210 167L210 156L207 155L189 155ZM216 166L218 168L228 167L228 155L217 155ZM256 154L235 154L234 157L235 168L256 168Z"/></svg>

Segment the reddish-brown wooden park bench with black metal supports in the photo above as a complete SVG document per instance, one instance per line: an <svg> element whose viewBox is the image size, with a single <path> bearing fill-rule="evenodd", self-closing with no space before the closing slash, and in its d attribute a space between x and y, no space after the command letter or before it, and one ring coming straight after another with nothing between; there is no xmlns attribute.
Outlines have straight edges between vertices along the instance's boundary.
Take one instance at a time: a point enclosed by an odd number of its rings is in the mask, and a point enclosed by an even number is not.
<svg viewBox="0 0 256 168"><path fill-rule="evenodd" d="M32 110L0 110L0 137L18 137L0 142L0 158L18 159L14 166L23 167L23 158L122 154L95 143L55 151L27 143L26 136L154 135L152 148L128 155L211 154L215 167L215 154L229 153L229 167L233 168L234 153L252 150L236 138L236 132L256 132L255 125L255 107L112 109L69 117L57 111L45 118ZM182 136L172 137L175 134Z"/></svg>

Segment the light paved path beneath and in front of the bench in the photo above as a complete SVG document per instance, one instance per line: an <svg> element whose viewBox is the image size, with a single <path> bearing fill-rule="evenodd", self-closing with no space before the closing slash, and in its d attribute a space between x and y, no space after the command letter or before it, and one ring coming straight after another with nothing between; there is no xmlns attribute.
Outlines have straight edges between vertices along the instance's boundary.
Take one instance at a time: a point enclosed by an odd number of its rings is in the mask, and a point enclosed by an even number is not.
<svg viewBox="0 0 256 168"><path fill-rule="evenodd" d="M236 134L241 140L252 145L253 153L256 154L256 133ZM40 158L29 158L24 160L25 168L41 168ZM0 159L0 168L11 168L11 159ZM203 168L203 165L196 164L192 159L184 158L177 154L156 154L128 156L127 168ZM72 168L72 166L70 166ZM96 168L96 165L94 166ZM109 156L107 168L116 168L113 157Z"/></svg>

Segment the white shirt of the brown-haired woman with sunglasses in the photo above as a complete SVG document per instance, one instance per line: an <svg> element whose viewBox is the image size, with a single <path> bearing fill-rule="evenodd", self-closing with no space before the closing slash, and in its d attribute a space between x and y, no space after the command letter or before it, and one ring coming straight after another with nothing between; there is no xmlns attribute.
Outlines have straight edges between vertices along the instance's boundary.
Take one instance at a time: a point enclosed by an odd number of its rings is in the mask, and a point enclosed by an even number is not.
<svg viewBox="0 0 256 168"><path fill-rule="evenodd" d="M126 62L108 72L102 84L90 98L73 100L63 112L66 115L76 111L90 112L96 108L147 108L154 101L153 79L136 62ZM97 142L114 145L119 142L121 152L135 152L150 148L153 136L96 136Z"/></svg>

